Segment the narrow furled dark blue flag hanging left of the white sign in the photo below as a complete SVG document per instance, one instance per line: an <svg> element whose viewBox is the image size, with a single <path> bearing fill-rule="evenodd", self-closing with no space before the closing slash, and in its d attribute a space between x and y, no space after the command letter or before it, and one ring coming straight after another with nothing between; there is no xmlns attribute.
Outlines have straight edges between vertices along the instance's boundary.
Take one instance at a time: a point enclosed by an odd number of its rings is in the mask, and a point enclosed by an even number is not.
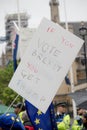
<svg viewBox="0 0 87 130"><path fill-rule="evenodd" d="M14 71L17 68L17 50L18 50L18 41L19 41L19 35L16 34L14 45L13 45L13 65L14 65Z"/></svg>

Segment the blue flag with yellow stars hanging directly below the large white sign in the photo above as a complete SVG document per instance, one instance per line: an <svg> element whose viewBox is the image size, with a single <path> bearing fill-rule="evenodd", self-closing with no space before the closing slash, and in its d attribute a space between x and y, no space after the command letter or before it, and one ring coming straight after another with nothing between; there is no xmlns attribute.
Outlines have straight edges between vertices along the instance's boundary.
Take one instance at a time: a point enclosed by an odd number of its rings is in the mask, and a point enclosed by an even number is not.
<svg viewBox="0 0 87 130"><path fill-rule="evenodd" d="M44 114L28 101L25 101L26 111L35 130L57 130L53 104Z"/></svg>

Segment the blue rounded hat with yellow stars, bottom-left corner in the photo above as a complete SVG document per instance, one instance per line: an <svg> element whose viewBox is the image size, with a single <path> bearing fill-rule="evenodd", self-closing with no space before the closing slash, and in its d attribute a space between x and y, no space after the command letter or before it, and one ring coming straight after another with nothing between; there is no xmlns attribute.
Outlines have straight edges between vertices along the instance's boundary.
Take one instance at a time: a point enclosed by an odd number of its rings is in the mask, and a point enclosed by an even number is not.
<svg viewBox="0 0 87 130"><path fill-rule="evenodd" d="M16 114L6 113L0 116L0 130L25 130L25 128Z"/></svg>

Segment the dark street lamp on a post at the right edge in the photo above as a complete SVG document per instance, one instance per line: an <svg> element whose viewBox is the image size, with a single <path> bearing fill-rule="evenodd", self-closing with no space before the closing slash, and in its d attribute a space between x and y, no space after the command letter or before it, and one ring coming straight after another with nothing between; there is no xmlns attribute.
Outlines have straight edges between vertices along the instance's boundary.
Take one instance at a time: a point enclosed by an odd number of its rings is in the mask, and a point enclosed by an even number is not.
<svg viewBox="0 0 87 130"><path fill-rule="evenodd" d="M86 73L86 81L87 81L87 56L86 56L86 42L85 42L85 36L87 35L87 28L84 25L84 22L81 22L81 27L79 28L79 33L82 36L82 39L84 40L84 63L85 63L85 73Z"/></svg>

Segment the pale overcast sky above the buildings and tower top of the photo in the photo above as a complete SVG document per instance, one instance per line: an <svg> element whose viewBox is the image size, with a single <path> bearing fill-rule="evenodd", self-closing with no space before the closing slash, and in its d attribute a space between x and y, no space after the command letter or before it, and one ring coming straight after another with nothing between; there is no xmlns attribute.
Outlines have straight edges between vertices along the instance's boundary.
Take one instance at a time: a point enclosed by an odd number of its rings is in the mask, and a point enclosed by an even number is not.
<svg viewBox="0 0 87 130"><path fill-rule="evenodd" d="M27 12L31 16L30 27L38 27L43 17L50 20L49 1L19 0L20 12ZM65 9L67 21L87 21L87 0L59 0L59 3L60 21L65 21ZM17 13L17 0L0 0L0 36L4 35L4 17L9 13Z"/></svg>

